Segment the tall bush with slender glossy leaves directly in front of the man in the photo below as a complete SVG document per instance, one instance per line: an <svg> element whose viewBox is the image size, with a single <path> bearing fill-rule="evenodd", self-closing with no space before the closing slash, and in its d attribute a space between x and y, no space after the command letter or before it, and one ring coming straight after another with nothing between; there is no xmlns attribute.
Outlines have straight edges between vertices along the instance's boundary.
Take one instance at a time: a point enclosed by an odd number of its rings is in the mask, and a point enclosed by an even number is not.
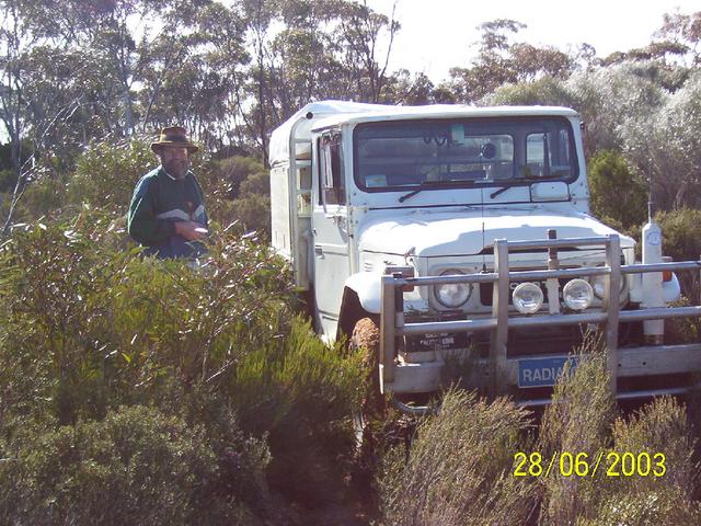
<svg viewBox="0 0 701 526"><path fill-rule="evenodd" d="M168 397L173 382L223 389L242 356L285 333L291 286L266 248L215 236L193 272L114 250L95 230L88 219L37 226L2 245L5 410L34 405L70 423Z"/></svg>

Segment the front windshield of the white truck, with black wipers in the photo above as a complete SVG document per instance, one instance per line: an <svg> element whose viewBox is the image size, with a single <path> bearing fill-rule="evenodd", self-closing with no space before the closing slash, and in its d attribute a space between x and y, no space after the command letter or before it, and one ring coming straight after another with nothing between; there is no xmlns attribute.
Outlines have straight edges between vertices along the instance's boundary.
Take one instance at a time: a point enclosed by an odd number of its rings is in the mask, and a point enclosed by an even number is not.
<svg viewBox="0 0 701 526"><path fill-rule="evenodd" d="M367 192L460 181L508 187L578 175L572 126L563 117L364 123L354 133L354 156L356 183Z"/></svg>

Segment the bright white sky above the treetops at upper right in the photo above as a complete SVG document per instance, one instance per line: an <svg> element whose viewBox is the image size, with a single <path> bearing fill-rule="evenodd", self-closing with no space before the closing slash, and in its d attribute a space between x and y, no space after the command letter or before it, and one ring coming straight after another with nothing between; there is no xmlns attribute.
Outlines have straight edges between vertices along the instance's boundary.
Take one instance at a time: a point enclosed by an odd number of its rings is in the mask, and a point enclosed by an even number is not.
<svg viewBox="0 0 701 526"><path fill-rule="evenodd" d="M663 24L663 14L701 10L699 0L367 0L368 7L395 19L388 71L406 68L434 82L453 66L468 66L476 55L483 22L512 19L527 25L513 42L551 45L563 52L587 43L599 57L647 45Z"/></svg>

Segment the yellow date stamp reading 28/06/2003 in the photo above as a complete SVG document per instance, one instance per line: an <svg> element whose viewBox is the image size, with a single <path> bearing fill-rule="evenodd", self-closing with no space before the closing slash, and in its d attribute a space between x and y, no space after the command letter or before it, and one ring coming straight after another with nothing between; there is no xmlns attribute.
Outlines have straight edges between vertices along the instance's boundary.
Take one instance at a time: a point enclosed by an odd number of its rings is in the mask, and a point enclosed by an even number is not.
<svg viewBox="0 0 701 526"><path fill-rule="evenodd" d="M664 453L648 451L554 451L544 458L540 453L514 454L514 477L664 477L667 472Z"/></svg>

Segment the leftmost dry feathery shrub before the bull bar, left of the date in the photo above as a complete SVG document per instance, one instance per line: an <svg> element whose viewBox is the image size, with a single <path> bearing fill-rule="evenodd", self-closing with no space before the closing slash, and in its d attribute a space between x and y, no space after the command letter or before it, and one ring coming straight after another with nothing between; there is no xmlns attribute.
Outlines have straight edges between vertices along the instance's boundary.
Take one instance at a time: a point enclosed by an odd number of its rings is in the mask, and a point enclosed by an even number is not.
<svg viewBox="0 0 701 526"><path fill-rule="evenodd" d="M448 391L420 424L409 458L394 448L380 478L384 524L525 524L535 484L513 476L527 413L506 399Z"/></svg>

